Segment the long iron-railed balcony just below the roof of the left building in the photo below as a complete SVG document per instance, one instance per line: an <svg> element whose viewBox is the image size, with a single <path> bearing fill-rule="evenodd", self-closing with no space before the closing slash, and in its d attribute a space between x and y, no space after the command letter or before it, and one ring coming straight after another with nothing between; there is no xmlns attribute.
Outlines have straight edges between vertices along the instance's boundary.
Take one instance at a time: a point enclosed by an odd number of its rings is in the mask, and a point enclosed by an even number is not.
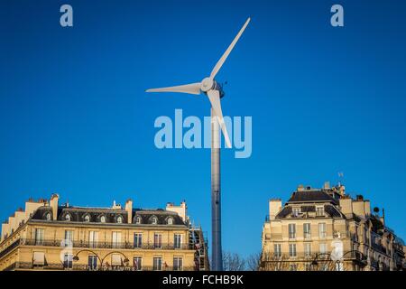
<svg viewBox="0 0 406 289"><path fill-rule="evenodd" d="M63 240L33 238L20 239L22 246L44 246L44 247L64 247ZM193 246L189 243L173 244L173 243L153 243L143 242L141 245L130 242L88 242L88 241L73 241L72 247L77 248L95 248L95 249L144 249L144 250L192 250ZM1 254L1 253L0 253Z"/></svg>

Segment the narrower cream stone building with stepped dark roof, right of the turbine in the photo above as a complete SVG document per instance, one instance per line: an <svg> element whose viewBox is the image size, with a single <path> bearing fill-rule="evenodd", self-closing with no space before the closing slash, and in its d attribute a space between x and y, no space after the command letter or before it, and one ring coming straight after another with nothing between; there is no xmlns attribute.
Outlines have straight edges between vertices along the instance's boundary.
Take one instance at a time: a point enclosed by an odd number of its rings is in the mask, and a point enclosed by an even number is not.
<svg viewBox="0 0 406 289"><path fill-rule="evenodd" d="M402 270L403 245L363 196L352 199L340 184L300 185L283 206L269 201L260 269Z"/></svg>

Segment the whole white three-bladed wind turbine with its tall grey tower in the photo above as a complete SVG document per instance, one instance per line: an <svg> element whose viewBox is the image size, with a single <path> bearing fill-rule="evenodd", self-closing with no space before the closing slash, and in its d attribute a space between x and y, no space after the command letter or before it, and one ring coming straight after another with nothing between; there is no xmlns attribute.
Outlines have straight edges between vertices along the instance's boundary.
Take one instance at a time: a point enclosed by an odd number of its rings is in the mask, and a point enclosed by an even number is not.
<svg viewBox="0 0 406 289"><path fill-rule="evenodd" d="M235 43L244 33L246 26L251 18L245 21L245 24L235 36L233 42L228 46L226 52L217 61L216 66L211 71L210 76L203 79L201 82L190 83L175 87L161 89L147 89L146 92L180 92L200 95L201 93L208 96L211 103L211 226L212 226L212 269L215 271L223 270L223 256L221 250L221 199L220 199L220 134L218 126L220 126L227 147L231 147L230 138L228 136L226 125L221 110L220 98L223 98L225 93L221 84L217 83L215 77L218 71L223 66L228 55L233 50Z"/></svg>

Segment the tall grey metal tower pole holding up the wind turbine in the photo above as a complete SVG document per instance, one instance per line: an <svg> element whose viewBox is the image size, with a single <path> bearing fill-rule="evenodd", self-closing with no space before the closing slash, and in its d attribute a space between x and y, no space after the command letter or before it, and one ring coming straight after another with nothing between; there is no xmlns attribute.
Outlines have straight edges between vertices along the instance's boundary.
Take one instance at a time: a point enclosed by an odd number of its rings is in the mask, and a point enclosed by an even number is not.
<svg viewBox="0 0 406 289"><path fill-rule="evenodd" d="M212 270L223 271L221 250L220 129L211 108L211 230Z"/></svg>

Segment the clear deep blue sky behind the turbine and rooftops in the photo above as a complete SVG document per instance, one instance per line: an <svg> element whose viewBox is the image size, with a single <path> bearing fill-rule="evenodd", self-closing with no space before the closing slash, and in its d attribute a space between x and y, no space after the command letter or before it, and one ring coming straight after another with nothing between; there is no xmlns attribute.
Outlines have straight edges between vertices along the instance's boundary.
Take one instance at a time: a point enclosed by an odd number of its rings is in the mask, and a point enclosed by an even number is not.
<svg viewBox="0 0 406 289"><path fill-rule="evenodd" d="M60 5L74 9L61 28ZM345 27L329 23L345 9ZM0 218L29 197L164 207L210 232L210 151L158 150L159 116L208 116L204 97L144 89L217 75L223 110L253 117L253 154L222 154L224 249L261 248L268 200L344 172L406 237L404 1L22 1L0 8Z"/></svg>

